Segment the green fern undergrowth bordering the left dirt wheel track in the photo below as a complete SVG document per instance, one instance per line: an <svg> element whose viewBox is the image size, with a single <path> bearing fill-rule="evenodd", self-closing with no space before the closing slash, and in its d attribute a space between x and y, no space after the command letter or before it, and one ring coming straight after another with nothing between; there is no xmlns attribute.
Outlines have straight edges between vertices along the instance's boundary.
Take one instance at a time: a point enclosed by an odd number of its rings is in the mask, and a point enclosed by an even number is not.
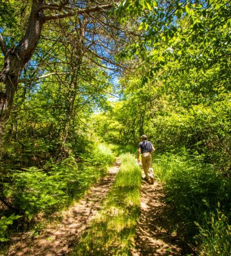
<svg viewBox="0 0 231 256"><path fill-rule="evenodd" d="M41 226L35 220L38 215L50 218L79 199L114 160L111 150L98 144L78 161L69 152L59 163L50 158L41 168L9 170L1 182L1 200L3 197L9 207L0 209L0 241L9 240L15 230L37 229Z"/></svg>

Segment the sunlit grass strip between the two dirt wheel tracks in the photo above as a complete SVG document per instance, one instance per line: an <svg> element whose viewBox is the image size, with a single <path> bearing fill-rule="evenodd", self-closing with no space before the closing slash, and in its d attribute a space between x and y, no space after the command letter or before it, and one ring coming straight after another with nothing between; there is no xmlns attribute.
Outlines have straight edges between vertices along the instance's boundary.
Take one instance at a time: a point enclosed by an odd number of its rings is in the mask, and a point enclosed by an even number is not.
<svg viewBox="0 0 231 256"><path fill-rule="evenodd" d="M139 218L140 168L124 154L103 209L95 216L74 255L128 255Z"/></svg>

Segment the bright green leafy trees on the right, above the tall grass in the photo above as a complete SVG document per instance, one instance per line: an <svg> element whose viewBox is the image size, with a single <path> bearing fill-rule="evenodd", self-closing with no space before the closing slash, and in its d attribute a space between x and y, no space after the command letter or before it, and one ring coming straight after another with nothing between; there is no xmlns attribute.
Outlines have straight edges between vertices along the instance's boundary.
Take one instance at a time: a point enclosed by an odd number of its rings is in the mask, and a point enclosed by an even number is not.
<svg viewBox="0 0 231 256"><path fill-rule="evenodd" d="M120 79L121 100L108 119L96 117L97 130L124 144L136 144L145 132L159 152L201 155L229 172L230 2L144 2L150 9L140 25L144 39L123 53L143 62ZM141 8L125 6L131 15Z"/></svg>

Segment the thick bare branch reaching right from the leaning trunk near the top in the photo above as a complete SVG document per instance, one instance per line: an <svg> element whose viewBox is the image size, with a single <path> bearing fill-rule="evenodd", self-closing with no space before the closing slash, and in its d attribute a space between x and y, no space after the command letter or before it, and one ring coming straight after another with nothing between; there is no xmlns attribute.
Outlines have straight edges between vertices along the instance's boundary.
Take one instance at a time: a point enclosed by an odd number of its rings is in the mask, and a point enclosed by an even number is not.
<svg viewBox="0 0 231 256"><path fill-rule="evenodd" d="M62 19L62 18L67 18L67 17L71 17L74 15L79 15L79 14L87 14L87 13L91 13L91 12L102 12L108 9L111 9L112 7L114 7L114 5L112 4L106 4L106 5L100 5L100 6L95 6L89 9L85 9L85 10L77 10L76 12L69 12L69 13L65 13L65 14L59 14L56 16L50 15L50 16L45 16L44 17L44 21L50 21L50 20L58 20L58 19Z"/></svg>

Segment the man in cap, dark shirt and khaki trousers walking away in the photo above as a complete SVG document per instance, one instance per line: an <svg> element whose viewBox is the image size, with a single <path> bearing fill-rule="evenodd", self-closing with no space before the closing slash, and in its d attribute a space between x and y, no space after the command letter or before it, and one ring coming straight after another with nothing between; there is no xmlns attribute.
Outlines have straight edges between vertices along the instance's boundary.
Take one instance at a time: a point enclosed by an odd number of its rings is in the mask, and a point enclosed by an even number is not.
<svg viewBox="0 0 231 256"><path fill-rule="evenodd" d="M139 156L141 154L143 171L145 172L145 179L147 179L148 181L150 180L150 183L153 184L154 174L151 153L155 151L155 148L153 147L153 144L151 144L151 142L147 140L147 135L143 134L140 138L142 139L142 141L140 141L139 143L137 161L138 163L140 162Z"/></svg>

